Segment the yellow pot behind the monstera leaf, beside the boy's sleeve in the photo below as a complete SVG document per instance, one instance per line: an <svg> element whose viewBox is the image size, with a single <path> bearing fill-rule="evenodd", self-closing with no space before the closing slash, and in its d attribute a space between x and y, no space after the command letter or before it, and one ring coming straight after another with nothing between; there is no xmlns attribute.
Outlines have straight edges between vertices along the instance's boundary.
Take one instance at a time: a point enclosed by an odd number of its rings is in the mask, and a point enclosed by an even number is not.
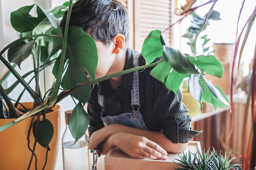
<svg viewBox="0 0 256 170"><path fill-rule="evenodd" d="M187 91L183 91L182 95L182 102L186 105L186 108L189 110L188 115L200 115L202 113L200 103Z"/></svg>

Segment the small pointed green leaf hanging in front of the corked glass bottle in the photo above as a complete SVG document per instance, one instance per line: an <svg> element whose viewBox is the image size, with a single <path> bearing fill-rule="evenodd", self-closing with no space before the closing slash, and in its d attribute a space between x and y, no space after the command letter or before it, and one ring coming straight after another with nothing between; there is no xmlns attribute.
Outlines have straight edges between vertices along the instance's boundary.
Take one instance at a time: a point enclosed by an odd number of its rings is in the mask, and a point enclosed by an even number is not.
<svg viewBox="0 0 256 170"><path fill-rule="evenodd" d="M68 127L74 139L77 141L80 139L87 130L89 125L89 116L85 112L81 102L72 110L70 120L68 121Z"/></svg>

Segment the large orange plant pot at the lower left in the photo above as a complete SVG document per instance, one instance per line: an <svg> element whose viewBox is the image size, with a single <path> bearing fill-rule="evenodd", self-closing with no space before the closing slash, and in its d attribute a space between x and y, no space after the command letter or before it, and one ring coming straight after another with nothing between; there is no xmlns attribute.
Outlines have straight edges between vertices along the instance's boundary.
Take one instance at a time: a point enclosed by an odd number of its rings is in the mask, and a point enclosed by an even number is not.
<svg viewBox="0 0 256 170"><path fill-rule="evenodd" d="M23 103L22 103L23 104ZM32 103L24 103L27 108L31 108ZM54 126L54 136L49 144L50 151L48 152L47 164L45 170L54 170L58 144L60 142L60 107L56 105L53 112L47 113L46 118L49 119ZM0 132L0 169L1 170L27 170L31 158L31 152L27 146L27 132L31 123L32 117L29 117L10 128ZM0 126L7 124L14 119L0 119ZM36 117L35 119L36 120ZM34 145L33 131L30 132L30 148ZM36 144L37 169L42 170L46 148ZM31 163L30 170L35 170L35 157Z"/></svg>

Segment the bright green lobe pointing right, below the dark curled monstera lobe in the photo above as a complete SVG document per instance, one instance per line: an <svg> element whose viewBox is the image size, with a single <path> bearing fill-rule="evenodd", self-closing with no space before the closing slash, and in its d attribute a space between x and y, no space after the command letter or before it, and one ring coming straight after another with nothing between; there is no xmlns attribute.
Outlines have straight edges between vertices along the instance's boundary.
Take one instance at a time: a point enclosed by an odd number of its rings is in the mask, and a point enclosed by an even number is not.
<svg viewBox="0 0 256 170"><path fill-rule="evenodd" d="M213 55L199 55L197 57L189 56L189 61L192 64L195 64L198 68L204 71L207 74L217 76L219 78L222 77L224 73L224 67L220 63L217 57Z"/></svg>

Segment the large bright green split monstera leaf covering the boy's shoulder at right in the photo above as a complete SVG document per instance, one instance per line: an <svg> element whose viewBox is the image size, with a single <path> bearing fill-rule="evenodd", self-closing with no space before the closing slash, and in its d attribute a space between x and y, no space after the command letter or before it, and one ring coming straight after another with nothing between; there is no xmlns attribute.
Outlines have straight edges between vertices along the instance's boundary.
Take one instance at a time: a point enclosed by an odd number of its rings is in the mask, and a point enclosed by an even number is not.
<svg viewBox="0 0 256 170"><path fill-rule="evenodd" d="M155 66L150 75L164 83L166 88L175 94L184 78L189 77L189 92L200 102L201 107L202 101L214 105L215 110L224 106L229 107L229 99L222 89L213 86L202 75L202 73L208 73L222 77L224 68L217 57L213 55L196 57L184 55L162 42L164 40L162 40L159 30L152 31L144 41L142 55L146 63L153 62L160 55L165 60ZM153 44L157 45L153 46Z"/></svg>

